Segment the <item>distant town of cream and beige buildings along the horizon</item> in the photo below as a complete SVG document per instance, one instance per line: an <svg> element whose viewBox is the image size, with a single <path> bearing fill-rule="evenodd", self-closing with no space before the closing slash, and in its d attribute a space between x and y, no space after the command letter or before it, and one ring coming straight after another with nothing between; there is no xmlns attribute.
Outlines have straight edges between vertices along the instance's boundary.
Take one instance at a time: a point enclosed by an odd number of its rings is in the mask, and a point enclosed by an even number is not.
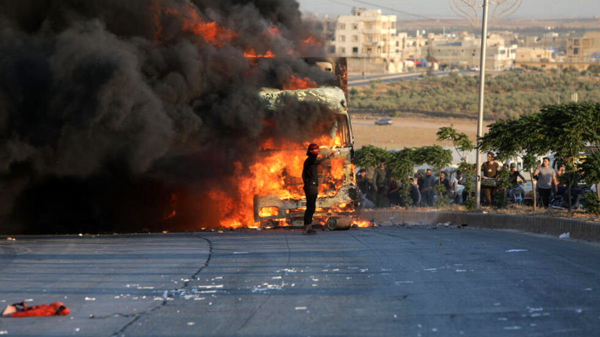
<svg viewBox="0 0 600 337"><path fill-rule="evenodd" d="M335 19L307 17L321 29L328 56L346 57L349 74L427 70L478 70L481 28L415 29L402 32L397 16L382 10L353 8ZM598 21L593 27L598 27ZM414 22L413 22L414 23ZM600 29L545 26L515 31L488 30L486 70L575 68L600 65Z"/></svg>

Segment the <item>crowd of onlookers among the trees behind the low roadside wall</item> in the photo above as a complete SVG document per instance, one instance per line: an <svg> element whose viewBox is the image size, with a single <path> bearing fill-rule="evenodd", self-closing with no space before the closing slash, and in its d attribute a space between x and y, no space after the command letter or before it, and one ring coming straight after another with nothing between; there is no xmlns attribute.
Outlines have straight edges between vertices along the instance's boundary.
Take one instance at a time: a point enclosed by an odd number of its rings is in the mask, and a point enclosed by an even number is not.
<svg viewBox="0 0 600 337"><path fill-rule="evenodd" d="M518 197L522 201L525 195L523 184L527 183L528 180L517 170L516 163L501 165L494 159L495 154L488 152L487 161L481 165L482 206L494 206L496 204L496 195L499 191L497 181L502 170L508 170L508 180L512 186L502 192L506 194L509 200L515 200L515 197ZM473 173L474 171L475 166L473 166ZM565 167L563 165L559 165L556 170L550 167L550 159L547 157L544 157L538 163L533 172L533 177L537 180L539 206L550 206L552 191L554 196L565 194L567 187L563 186L559 180L564 172ZM455 170L452 174L448 173L441 171L439 176L435 176L431 169L419 170L415 176L410 177L409 200L404 200L403 194L400 193L402 182L398 182L391 176L391 172L386 167L383 158L379 160L378 166L371 171L371 177L368 177L369 174L366 169L359 170L356 183L361 191L362 207L365 208L406 206L407 203L412 207L432 207L434 206L436 193L445 195L450 203L455 204L463 204L468 198L472 198L474 191L467 192L464 188L465 181L462 172ZM448 176L450 179L448 179ZM473 174L472 179L475 179L474 176L475 174ZM436 188L436 185L443 186L443 188ZM573 192L574 189L572 189L572 194Z"/></svg>

